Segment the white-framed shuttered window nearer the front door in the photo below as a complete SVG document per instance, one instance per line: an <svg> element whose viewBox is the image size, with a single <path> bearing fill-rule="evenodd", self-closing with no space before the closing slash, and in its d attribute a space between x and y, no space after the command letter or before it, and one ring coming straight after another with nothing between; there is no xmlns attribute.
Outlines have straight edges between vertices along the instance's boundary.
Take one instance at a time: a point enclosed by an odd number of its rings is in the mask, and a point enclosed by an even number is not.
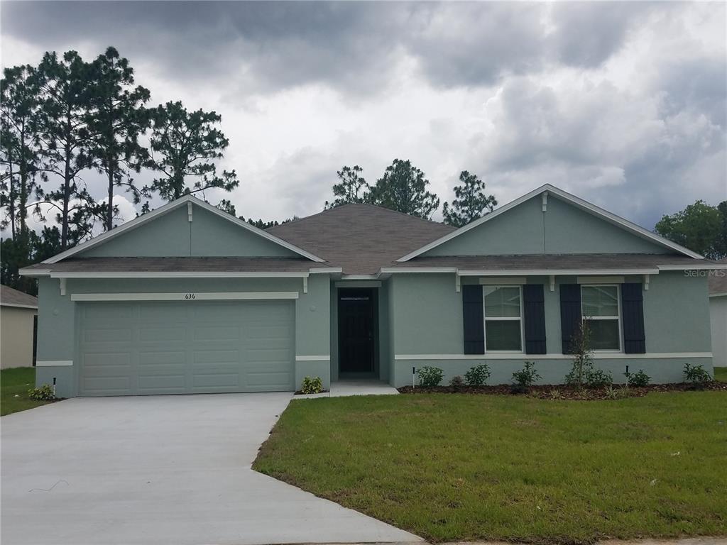
<svg viewBox="0 0 727 545"><path fill-rule="evenodd" d="M486 352L523 351L521 286L483 286Z"/></svg>

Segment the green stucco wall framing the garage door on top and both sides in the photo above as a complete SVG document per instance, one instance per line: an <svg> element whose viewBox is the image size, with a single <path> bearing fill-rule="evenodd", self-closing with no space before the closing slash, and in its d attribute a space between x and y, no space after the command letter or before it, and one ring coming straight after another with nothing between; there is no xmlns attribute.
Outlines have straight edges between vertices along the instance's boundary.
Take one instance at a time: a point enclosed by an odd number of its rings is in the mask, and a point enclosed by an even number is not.
<svg viewBox="0 0 727 545"><path fill-rule="evenodd" d="M227 291L297 291L295 301L295 376L297 386L303 376L321 376L330 384L329 326L330 288L328 275L310 275L308 293L302 278L188 278L188 279L69 279L65 296L57 279L39 280L37 384L57 379L57 395L74 397L78 391L76 303L71 294L80 293L186 293ZM190 304L193 304L190 303ZM32 330L31 330L32 332ZM45 366L44 362L54 365ZM63 365L71 362L72 365Z"/></svg>

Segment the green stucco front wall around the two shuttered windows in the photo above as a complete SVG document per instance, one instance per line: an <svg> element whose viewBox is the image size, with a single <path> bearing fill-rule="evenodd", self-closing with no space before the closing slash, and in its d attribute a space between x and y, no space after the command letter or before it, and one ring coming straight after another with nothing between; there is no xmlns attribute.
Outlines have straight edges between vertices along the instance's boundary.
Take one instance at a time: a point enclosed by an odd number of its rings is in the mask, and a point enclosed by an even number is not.
<svg viewBox="0 0 727 545"><path fill-rule="evenodd" d="M640 277L627 277L640 282ZM463 281L478 283L478 278ZM411 384L411 368L434 365L444 369L445 381L463 375L478 362L486 362L492 371L490 382L509 383L513 371L525 360L537 362L544 383L559 383L571 368L572 360L561 353L560 285L576 278L558 277L555 291L550 291L543 277L527 278L528 283L545 285L545 319L547 355L463 354L462 294L455 291L454 275L393 275L390 282L390 325L393 329L393 374L391 384ZM653 382L680 382L684 363L699 363L712 372L709 304L706 278L687 276L683 272L651 275L648 290L643 291L646 355L597 354L597 366L622 379L626 366L630 371L643 369ZM675 358L688 353L686 358ZM425 358L416 358L426 355Z"/></svg>

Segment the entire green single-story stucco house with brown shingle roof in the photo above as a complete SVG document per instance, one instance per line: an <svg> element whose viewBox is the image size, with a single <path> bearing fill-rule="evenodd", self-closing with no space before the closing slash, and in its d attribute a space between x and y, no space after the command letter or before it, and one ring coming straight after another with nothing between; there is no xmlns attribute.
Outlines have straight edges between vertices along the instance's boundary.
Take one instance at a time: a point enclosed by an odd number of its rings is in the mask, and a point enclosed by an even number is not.
<svg viewBox="0 0 727 545"><path fill-rule="evenodd" d="M262 231L191 196L27 267L37 381L57 395L293 390L304 376L411 384L485 362L509 383L595 363L712 371L705 271L724 267L551 185L454 229L349 204Z"/></svg>

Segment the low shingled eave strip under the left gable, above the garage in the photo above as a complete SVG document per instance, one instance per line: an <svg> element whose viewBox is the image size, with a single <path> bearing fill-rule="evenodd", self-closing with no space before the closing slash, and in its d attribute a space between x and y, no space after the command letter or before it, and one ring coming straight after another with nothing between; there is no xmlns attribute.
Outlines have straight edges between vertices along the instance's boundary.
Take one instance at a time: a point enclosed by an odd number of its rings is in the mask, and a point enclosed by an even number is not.
<svg viewBox="0 0 727 545"><path fill-rule="evenodd" d="M289 257L87 257L64 259L57 263L37 263L23 269L27 276L55 278L103 276L112 273L164 275L165 273L219 273L219 276L244 273L330 272L327 263ZM340 271L340 270L339 270Z"/></svg>

